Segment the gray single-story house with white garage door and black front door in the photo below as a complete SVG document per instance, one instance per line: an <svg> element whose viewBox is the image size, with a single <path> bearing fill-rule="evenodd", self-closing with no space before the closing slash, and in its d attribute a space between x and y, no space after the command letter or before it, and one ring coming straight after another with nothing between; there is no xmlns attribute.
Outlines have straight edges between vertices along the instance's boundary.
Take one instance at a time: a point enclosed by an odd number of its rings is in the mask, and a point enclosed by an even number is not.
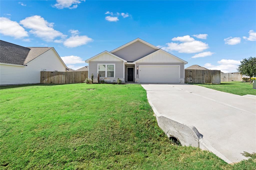
<svg viewBox="0 0 256 170"><path fill-rule="evenodd" d="M85 61L89 77L97 74L106 82L184 83L184 67L188 62L140 38L110 52L103 51Z"/></svg>

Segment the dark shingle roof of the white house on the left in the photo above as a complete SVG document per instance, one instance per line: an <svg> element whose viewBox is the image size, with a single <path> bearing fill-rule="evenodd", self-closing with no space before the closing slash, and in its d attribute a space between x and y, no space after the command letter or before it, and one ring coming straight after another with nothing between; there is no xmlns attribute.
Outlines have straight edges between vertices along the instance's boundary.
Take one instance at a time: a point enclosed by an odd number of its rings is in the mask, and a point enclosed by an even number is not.
<svg viewBox="0 0 256 170"><path fill-rule="evenodd" d="M0 63L26 65L53 47L23 47L0 40Z"/></svg>

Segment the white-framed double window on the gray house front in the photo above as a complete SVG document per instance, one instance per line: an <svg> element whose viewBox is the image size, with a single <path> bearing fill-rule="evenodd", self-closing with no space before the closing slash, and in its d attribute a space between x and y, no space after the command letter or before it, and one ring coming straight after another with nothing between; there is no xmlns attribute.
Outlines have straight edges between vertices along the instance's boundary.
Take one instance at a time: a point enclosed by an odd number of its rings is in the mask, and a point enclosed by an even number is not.
<svg viewBox="0 0 256 170"><path fill-rule="evenodd" d="M98 64L100 77L115 77L115 64Z"/></svg>

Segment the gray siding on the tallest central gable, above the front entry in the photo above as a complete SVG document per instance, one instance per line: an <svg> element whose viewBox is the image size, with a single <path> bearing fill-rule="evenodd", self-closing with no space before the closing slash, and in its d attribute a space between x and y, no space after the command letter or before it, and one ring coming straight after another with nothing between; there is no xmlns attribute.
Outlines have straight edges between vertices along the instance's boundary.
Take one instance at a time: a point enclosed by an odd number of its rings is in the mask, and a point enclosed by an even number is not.
<svg viewBox="0 0 256 170"><path fill-rule="evenodd" d="M152 48L140 41L136 41L113 54L123 58L126 61L134 62L142 57L145 57L148 54L155 52L156 49Z"/></svg>

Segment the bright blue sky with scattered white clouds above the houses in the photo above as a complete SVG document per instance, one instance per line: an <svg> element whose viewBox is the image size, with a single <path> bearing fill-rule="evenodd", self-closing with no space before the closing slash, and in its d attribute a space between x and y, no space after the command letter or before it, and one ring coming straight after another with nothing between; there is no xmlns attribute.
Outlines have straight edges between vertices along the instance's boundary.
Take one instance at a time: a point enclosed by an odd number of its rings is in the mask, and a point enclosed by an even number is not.
<svg viewBox="0 0 256 170"><path fill-rule="evenodd" d="M256 1L1 1L1 40L52 46L78 69L141 38L186 60L186 67L231 72L256 56L255 11Z"/></svg>

